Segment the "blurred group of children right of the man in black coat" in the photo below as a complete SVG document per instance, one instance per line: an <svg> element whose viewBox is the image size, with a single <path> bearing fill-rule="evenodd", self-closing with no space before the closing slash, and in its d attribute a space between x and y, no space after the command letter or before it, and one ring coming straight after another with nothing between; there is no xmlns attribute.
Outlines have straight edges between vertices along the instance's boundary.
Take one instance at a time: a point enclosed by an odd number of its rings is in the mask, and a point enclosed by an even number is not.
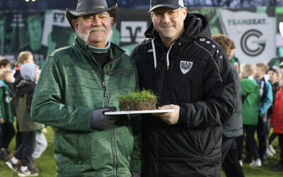
<svg viewBox="0 0 283 177"><path fill-rule="evenodd" d="M283 170L283 62L279 67L268 67L262 62L249 64L243 59L246 63L240 64L233 57L235 45L228 36L212 35L212 39L228 55L241 83L239 118L243 121L243 135L236 137L238 163L241 166L249 163L250 167L267 164L268 156L276 154L272 142L278 138L275 147L281 149L280 161L272 169Z"/></svg>

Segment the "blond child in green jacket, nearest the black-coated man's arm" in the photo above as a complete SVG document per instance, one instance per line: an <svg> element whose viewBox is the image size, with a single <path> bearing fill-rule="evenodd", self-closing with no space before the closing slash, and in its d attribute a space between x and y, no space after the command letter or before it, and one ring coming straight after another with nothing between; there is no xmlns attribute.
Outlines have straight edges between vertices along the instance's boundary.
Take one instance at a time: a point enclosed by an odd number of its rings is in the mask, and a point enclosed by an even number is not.
<svg viewBox="0 0 283 177"><path fill-rule="evenodd" d="M255 130L258 125L258 108L260 107L260 87L253 80L253 66L251 64L243 64L241 67L241 87L242 87L242 118L243 118L243 132L246 133L246 146L249 147L250 152L253 156L253 161L250 166L262 166L260 161L260 155L258 153L258 145L255 142ZM241 147L239 150L240 164L243 154L243 139L241 136Z"/></svg>

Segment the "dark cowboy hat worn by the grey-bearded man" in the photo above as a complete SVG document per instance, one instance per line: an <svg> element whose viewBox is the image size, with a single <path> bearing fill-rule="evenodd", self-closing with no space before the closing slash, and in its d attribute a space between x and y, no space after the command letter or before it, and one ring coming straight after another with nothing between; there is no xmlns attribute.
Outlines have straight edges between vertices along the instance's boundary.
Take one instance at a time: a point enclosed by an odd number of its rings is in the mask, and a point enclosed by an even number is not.
<svg viewBox="0 0 283 177"><path fill-rule="evenodd" d="M86 16L89 14L103 13L107 11L112 18L116 18L118 5L108 8L107 2L105 0L79 0L76 4L76 11L69 11L66 9L66 16L71 25L71 28L74 29L72 21L79 16Z"/></svg>

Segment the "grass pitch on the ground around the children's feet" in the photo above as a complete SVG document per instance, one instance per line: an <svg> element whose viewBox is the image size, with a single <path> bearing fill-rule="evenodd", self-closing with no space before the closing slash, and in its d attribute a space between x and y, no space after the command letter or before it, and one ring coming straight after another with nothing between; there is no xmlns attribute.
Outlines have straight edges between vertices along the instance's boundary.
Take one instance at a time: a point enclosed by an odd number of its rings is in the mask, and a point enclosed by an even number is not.
<svg viewBox="0 0 283 177"><path fill-rule="evenodd" d="M51 127L48 127L48 132L46 138L48 142L48 147L45 152L43 152L40 159L37 160L37 166L43 169L43 171L40 171L39 176L42 177L51 177L56 176L56 164L54 161L53 156L53 149L54 149L54 143L53 143L53 131ZM277 139L273 142L273 146L276 147L278 144ZM15 139L11 142L11 145L9 147L9 150L12 151L15 147ZM262 167L249 167L248 164L243 164L243 171L245 173L246 177L281 177L283 176L283 171L275 171L271 169L271 166L276 165L279 161L279 154L280 150L275 149L276 154L275 156L268 156L268 164L263 165ZM5 161L0 160L0 176L1 177L10 177L10 176L17 176L16 173L8 169L8 167L5 164ZM221 176L225 176L224 172L221 171Z"/></svg>

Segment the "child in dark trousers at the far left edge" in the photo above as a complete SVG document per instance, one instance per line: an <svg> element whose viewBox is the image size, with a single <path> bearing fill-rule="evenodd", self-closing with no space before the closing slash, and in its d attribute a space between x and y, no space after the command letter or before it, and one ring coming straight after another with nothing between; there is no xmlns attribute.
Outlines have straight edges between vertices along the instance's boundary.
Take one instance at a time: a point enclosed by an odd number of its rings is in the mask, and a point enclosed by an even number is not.
<svg viewBox="0 0 283 177"><path fill-rule="evenodd" d="M8 145L15 136L15 128L13 127L14 116L11 109L11 100L13 91L11 84L13 75L11 69L0 69L0 122L1 128L1 159L7 161Z"/></svg>

